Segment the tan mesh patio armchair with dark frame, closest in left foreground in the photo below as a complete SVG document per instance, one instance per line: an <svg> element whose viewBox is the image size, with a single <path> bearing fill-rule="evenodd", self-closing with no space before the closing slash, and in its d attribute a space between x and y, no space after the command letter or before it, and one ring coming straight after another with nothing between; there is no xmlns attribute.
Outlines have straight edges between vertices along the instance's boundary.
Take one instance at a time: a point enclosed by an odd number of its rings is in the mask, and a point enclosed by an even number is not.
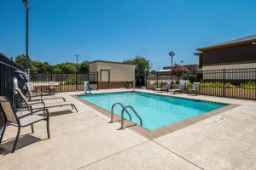
<svg viewBox="0 0 256 170"><path fill-rule="evenodd" d="M31 111L30 114L27 116L18 117L15 113L16 111L14 110L13 106L10 104L9 99L7 99L4 96L0 96L0 104L1 104L0 105L1 110L3 111L3 115L5 116L6 123L8 123L9 125L18 127L18 132L17 132L16 138L15 138L15 144L13 146L12 153L15 152L15 147L16 147L16 144L17 144L19 136L20 136L20 127L31 126L32 133L34 133L33 124L36 122L40 122L40 121L46 121L47 122L47 125L46 125L47 136L48 136L48 139L50 138L49 137L49 111L47 109L44 110L44 113L46 116L34 115L33 114L34 112ZM3 133L0 137L0 144L3 139L3 134L5 132L6 123L3 125L4 127L3 127Z"/></svg>

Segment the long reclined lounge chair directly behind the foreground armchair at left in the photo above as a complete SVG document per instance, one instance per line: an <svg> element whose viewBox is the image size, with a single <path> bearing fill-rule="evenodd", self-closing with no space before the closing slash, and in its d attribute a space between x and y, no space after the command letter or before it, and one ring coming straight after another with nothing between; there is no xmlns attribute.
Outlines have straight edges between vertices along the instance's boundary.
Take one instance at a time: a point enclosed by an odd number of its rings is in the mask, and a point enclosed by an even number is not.
<svg viewBox="0 0 256 170"><path fill-rule="evenodd" d="M28 109L30 106L32 106L33 110L38 110L38 109L44 109L44 108L62 107L62 106L70 105L72 107L72 109L75 109L78 112L76 106L73 105L72 103L63 102L63 103L59 103L59 105L55 105L55 104L44 103L44 101L29 102L26 99L25 95L20 91L20 88L15 88L15 92L17 92L21 97L21 101L17 105L17 108L19 108L21 110Z"/></svg>

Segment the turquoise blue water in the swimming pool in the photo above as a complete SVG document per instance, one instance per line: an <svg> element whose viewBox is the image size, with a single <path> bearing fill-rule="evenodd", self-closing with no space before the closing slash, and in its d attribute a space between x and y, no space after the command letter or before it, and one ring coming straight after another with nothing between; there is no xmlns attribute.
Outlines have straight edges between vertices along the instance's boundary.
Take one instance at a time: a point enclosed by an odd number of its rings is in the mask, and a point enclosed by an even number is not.
<svg viewBox="0 0 256 170"><path fill-rule="evenodd" d="M111 111L114 103L119 102L123 105L131 105L142 117L143 127L149 130L181 122L190 117L199 116L225 106L224 104L207 101L180 99L138 92L80 95L79 98L108 111ZM115 107L114 114L121 115L120 106ZM125 115L125 118L128 119L128 116ZM139 120L134 115L132 115L132 122L139 124Z"/></svg>

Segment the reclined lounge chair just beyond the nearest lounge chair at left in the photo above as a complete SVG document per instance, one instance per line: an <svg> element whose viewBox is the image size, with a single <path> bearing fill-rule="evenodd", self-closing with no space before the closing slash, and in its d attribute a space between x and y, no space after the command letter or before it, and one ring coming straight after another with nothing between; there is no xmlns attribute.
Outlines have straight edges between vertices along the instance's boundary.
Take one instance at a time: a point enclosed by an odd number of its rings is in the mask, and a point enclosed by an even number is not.
<svg viewBox="0 0 256 170"><path fill-rule="evenodd" d="M42 93L42 92L35 93L34 92L35 88L34 88L32 82L27 82L26 83L26 88L27 88L27 96L28 96L29 101L37 101L37 100L44 101L46 99L63 99L64 102L66 101L66 99L63 98L63 97L53 97L53 98L52 97L48 97L48 98L44 98L43 99L44 93ZM37 96L40 96L40 99L32 99L32 98L37 97Z"/></svg>

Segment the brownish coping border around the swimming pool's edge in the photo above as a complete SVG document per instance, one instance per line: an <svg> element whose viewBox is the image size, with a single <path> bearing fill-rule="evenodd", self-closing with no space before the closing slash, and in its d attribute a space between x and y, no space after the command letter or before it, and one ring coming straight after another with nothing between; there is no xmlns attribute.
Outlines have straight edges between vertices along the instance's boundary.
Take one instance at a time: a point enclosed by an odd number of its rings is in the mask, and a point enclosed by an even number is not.
<svg viewBox="0 0 256 170"><path fill-rule="evenodd" d="M124 92L128 92L128 91L124 91ZM133 91L131 91L131 92L133 92ZM120 92L120 93L122 93L122 92ZM143 92L143 93L151 94L151 93L146 93L146 92ZM102 94L105 94L105 93L102 93ZM106 94L109 94L109 93L106 93ZM111 94L111 92L110 92L110 94ZM78 99L81 103L83 103L85 105L89 105L90 107L92 107L96 111L99 111L100 113L102 113L105 116L108 116L108 117L111 116L111 112L110 111L105 110L105 109L103 109L102 107L100 107L98 105L92 104L89 101L86 101L86 100L81 99L81 98L78 97L78 96L81 96L81 95L84 95L84 94L71 95L71 96L74 99ZM157 95L162 95L162 94L157 94ZM167 95L162 95L162 96L167 96ZM170 96L170 97L172 97L172 96ZM179 98L179 97L176 97L176 98ZM183 99L185 99L185 98L183 98ZM207 101L207 100L203 100L203 99L195 99L195 100ZM209 102L209 101L207 101L207 102ZM218 103L218 102L212 102L212 103ZM227 104L227 103L221 103L220 102L220 104ZM172 123L170 125L166 125L164 127L157 128L155 130L149 130L146 127L141 127L141 126L137 125L134 122L130 122L128 120L125 120L125 125L126 125L125 128L128 127L131 130L133 130L133 131L135 131L137 133L140 133L141 135L143 135L144 137L146 137L148 139L156 139L156 138L159 138L161 136L166 135L167 133L172 133L172 132L175 132L175 131L177 131L179 129L182 129L184 127L189 127L190 125L193 125L196 122L201 122L201 121L203 121L203 120L205 120L205 119L207 119L207 118L209 118L211 116L216 116L216 115L218 115L220 113L223 113L224 111L228 111L230 109L236 108L237 106L239 106L239 105L227 104L224 107L218 108L218 109L216 109L214 111L209 111L209 112L204 113L204 114L202 114L200 116L190 117L190 118L185 119L185 120L183 120L181 122L175 122L175 123ZM119 122L120 119L121 119L120 116L113 114L113 120L115 120L114 122Z"/></svg>

